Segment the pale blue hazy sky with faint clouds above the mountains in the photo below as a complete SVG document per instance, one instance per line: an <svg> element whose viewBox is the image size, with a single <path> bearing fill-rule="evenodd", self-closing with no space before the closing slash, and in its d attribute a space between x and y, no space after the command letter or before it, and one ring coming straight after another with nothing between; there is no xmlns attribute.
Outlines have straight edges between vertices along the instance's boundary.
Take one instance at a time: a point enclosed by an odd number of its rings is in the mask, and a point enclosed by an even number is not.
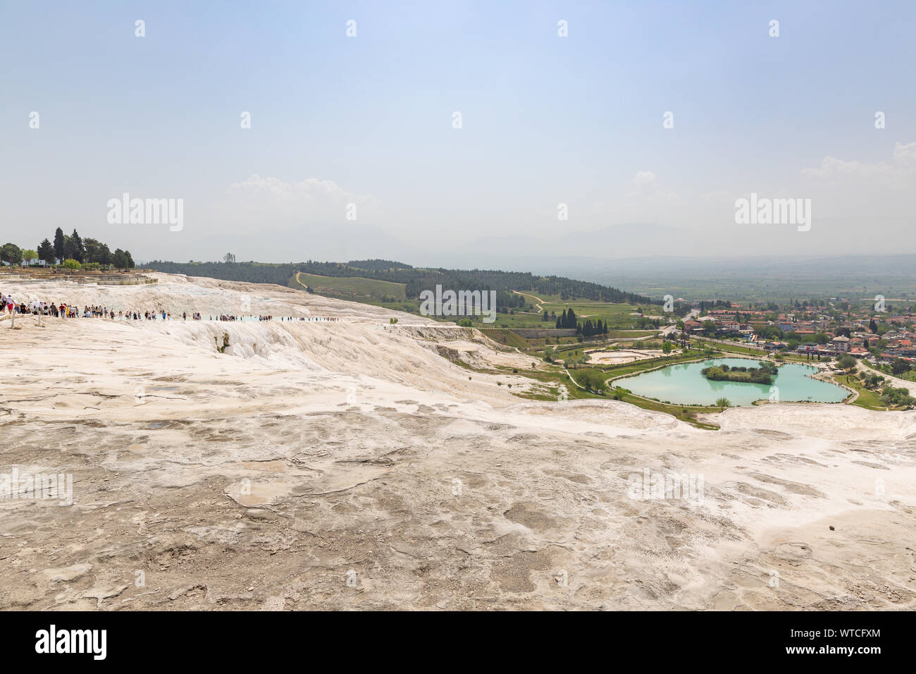
<svg viewBox="0 0 916 674"><path fill-rule="evenodd" d="M757 192L812 199L787 249L916 252L914 35L911 0L3 0L0 242L300 260L376 227L433 251L650 222L739 246ZM125 192L183 199L183 229L110 225Z"/></svg>

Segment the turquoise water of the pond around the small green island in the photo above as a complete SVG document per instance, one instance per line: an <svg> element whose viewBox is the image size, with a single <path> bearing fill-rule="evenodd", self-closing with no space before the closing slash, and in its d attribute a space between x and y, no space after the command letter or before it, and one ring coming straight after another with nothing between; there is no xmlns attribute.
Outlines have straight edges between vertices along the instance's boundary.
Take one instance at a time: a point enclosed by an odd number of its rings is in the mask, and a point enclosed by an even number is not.
<svg viewBox="0 0 916 674"><path fill-rule="evenodd" d="M711 365L723 364L728 367L758 367L758 361L754 359L709 359L643 372L618 379L613 385L622 386L645 398L656 398L670 403L712 405L719 398L728 398L729 402L737 407L747 407L757 400L769 400L770 395L776 393L778 400L783 403L841 403L849 394L839 386L807 376L817 371L817 368L810 365L780 365L780 373L769 385L709 381L700 371ZM771 393L770 389L773 387L778 391Z"/></svg>

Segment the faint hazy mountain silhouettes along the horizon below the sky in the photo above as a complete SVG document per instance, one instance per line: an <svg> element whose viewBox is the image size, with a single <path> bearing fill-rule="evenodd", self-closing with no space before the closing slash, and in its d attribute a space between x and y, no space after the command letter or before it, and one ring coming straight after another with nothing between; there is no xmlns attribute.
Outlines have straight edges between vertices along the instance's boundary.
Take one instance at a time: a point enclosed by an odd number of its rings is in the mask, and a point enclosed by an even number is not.
<svg viewBox="0 0 916 674"><path fill-rule="evenodd" d="M400 238L384 227L336 220L291 230L274 229L265 223L258 227L256 236L251 231L237 234L226 231L221 233L220 250L216 251L213 237L194 237L193 230L188 228L182 233L181 248L187 251L189 259L195 260L220 259L224 252L233 252L237 260L385 258L408 260L424 267L568 274L583 268L600 271L618 264L626 266L624 260L640 260L640 265L658 267L664 258L759 260L764 255L801 259L844 255L853 245L858 252L871 255L913 248L916 239L911 236L909 224L895 221L892 225L884 221L882 231L887 232L886 236L874 237L861 223L830 219L815 220L807 232L791 226L740 225L706 227L700 232L652 222L568 231L569 223L558 222L556 233L549 236L521 233L455 237L453 243L442 244L441 236ZM136 236L143 236L143 232L139 230ZM136 249L144 251L145 260L175 257L173 241L152 234ZM666 263L664 268L667 267Z"/></svg>

